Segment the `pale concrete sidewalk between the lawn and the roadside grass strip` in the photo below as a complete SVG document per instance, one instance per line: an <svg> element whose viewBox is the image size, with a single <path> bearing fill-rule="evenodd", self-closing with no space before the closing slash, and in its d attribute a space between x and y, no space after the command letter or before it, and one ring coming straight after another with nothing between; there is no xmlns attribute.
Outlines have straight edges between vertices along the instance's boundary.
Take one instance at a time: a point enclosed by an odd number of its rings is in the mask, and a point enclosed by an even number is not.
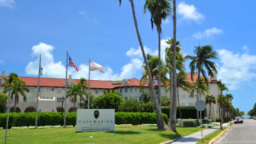
<svg viewBox="0 0 256 144"><path fill-rule="evenodd" d="M230 124L230 122L227 123L223 123L223 127L226 127ZM218 130L219 126L214 126L212 128L206 129L206 130L202 130L202 138L205 137L206 135L213 133L215 130ZM165 144L167 143L173 143L173 144L196 144L199 140L201 139L201 130L194 133L194 134L190 134L187 135L186 137L181 137L178 138L176 141L174 142L163 142Z"/></svg>

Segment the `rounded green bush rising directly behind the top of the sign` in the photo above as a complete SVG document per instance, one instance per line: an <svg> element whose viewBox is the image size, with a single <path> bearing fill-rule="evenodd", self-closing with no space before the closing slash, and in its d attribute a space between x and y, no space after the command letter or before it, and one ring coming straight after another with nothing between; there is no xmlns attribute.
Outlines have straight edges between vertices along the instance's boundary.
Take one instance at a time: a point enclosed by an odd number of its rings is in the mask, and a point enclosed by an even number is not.
<svg viewBox="0 0 256 144"><path fill-rule="evenodd" d="M115 109L118 110L122 102L122 97L119 94L107 93L94 99L94 109Z"/></svg>

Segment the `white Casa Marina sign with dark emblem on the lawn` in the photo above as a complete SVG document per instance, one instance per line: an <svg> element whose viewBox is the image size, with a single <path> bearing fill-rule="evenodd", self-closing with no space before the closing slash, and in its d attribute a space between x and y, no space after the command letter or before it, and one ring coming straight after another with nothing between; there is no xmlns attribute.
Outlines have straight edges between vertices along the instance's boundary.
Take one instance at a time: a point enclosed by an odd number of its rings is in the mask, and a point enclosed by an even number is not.
<svg viewBox="0 0 256 144"><path fill-rule="evenodd" d="M114 109L78 109L77 131L114 130Z"/></svg>

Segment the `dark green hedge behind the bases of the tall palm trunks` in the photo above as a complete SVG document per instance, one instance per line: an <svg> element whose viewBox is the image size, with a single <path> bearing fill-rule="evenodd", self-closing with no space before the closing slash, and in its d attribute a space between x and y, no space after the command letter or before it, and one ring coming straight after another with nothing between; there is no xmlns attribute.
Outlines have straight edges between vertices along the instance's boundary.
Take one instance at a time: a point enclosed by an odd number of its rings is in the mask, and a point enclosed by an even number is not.
<svg viewBox="0 0 256 144"><path fill-rule="evenodd" d="M197 118L197 110L194 106L181 106L182 109L182 118ZM168 118L170 117L170 106L162 106L162 113L166 114ZM201 112L202 118L205 117L204 112ZM176 118L180 118L179 109L177 107Z"/></svg>

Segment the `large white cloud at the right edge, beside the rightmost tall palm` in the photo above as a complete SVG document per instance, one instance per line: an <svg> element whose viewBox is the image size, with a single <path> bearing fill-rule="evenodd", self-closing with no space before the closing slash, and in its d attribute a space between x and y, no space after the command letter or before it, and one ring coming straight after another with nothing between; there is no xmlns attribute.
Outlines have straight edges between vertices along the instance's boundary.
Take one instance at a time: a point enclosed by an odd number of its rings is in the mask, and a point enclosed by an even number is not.
<svg viewBox="0 0 256 144"><path fill-rule="evenodd" d="M219 67L218 76L230 90L238 89L242 82L250 82L256 78L256 55L234 54L229 50L218 50L218 56L222 62Z"/></svg>

